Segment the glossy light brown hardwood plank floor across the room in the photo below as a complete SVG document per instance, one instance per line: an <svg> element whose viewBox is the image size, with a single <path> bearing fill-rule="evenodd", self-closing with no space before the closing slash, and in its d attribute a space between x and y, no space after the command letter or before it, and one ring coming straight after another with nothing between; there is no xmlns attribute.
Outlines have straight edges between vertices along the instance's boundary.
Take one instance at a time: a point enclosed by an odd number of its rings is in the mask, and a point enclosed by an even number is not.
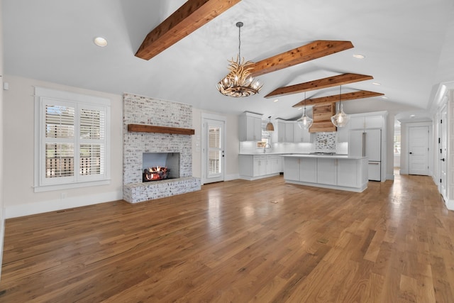
<svg viewBox="0 0 454 303"><path fill-rule="evenodd" d="M454 302L431 177L362 193L282 177L6 221L0 302Z"/></svg>

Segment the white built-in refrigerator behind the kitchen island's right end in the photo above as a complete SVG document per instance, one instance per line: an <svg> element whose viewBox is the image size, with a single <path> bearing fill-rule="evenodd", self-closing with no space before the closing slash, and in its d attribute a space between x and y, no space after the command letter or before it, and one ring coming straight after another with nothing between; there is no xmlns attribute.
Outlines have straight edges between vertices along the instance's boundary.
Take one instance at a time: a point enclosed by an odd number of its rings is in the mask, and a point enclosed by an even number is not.
<svg viewBox="0 0 454 303"><path fill-rule="evenodd" d="M369 180L382 180L382 130L350 131L348 155L365 156L369 161Z"/></svg>

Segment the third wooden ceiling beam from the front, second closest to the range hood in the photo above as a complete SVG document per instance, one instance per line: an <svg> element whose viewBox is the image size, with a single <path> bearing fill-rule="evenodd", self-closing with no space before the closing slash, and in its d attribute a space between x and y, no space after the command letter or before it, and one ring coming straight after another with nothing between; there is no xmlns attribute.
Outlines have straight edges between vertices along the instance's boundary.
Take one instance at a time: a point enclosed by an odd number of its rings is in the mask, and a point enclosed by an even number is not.
<svg viewBox="0 0 454 303"><path fill-rule="evenodd" d="M288 87L279 87L274 91L267 94L265 98L285 96L287 94L297 94L300 92L309 92L315 89L325 89L327 87L336 87L338 85L360 82L365 80L374 79L372 76L359 75L359 74L342 74L333 77L327 77L314 81L304 82L300 84L289 85Z"/></svg>

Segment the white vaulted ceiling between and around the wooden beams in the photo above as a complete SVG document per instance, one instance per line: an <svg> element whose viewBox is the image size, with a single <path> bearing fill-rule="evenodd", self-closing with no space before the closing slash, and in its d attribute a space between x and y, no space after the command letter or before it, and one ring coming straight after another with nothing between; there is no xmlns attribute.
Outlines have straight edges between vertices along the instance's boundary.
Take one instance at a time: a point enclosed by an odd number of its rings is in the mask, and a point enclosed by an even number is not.
<svg viewBox="0 0 454 303"><path fill-rule="evenodd" d="M135 57L145 35L182 0L3 0L4 72L101 92L130 92L226 114L254 111L294 119L304 93L264 96L277 87L353 72L375 79L347 84L381 97L346 101L344 110L428 114L441 82L454 80L453 0L243 0L151 60ZM238 53L255 62L314 40L355 48L262 75L260 94L224 97L216 82ZM92 42L105 37L109 45ZM358 60L353 54L365 55ZM380 86L372 84L380 82ZM338 87L307 97L338 94ZM401 114L402 116L404 114Z"/></svg>

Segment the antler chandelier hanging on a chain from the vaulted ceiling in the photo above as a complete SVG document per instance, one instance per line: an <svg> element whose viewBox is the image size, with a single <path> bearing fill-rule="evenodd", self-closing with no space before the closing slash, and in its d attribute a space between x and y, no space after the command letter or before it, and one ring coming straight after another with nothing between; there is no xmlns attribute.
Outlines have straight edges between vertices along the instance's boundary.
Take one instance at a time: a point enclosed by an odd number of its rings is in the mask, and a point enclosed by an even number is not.
<svg viewBox="0 0 454 303"><path fill-rule="evenodd" d="M258 79L254 79L251 74L254 69L254 62L245 61L241 58L241 27L243 22L237 22L238 27L238 56L236 61L228 60L228 70L230 72L216 84L218 91L228 97L248 97L258 94L262 85Z"/></svg>

